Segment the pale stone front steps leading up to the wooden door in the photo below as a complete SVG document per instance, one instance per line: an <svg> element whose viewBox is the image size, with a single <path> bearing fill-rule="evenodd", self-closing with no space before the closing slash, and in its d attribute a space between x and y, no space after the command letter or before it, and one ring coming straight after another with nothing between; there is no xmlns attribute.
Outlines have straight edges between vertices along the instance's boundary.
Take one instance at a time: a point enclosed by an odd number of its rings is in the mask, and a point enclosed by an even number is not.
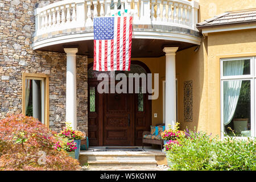
<svg viewBox="0 0 256 182"><path fill-rule="evenodd" d="M80 151L79 162L88 164L88 170L164 170L165 152L155 147L90 147Z"/></svg>

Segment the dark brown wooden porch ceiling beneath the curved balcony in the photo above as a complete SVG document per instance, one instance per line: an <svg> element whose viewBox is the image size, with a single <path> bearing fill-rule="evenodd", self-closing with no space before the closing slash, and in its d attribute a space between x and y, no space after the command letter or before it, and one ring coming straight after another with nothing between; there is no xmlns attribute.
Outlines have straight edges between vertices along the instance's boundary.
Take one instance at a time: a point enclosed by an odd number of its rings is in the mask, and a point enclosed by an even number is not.
<svg viewBox="0 0 256 182"><path fill-rule="evenodd" d="M63 47L76 46L78 55L93 57L93 40L56 44L39 48L40 51L63 52ZM164 47L179 47L178 51L193 47L195 44L160 39L133 39L131 45L131 57L160 57L164 55Z"/></svg>

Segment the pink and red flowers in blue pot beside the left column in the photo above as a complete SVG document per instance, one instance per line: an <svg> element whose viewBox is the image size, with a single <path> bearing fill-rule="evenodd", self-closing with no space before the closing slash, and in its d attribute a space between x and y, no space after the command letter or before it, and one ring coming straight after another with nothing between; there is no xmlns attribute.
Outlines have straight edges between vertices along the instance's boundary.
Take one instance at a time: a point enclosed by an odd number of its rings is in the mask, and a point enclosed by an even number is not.
<svg viewBox="0 0 256 182"><path fill-rule="evenodd" d="M75 159L79 159L81 139L85 137L85 134L81 131L73 130L71 123L66 122L65 128L58 134L60 138L66 138L69 140L69 144L72 144L72 140L76 143Z"/></svg>

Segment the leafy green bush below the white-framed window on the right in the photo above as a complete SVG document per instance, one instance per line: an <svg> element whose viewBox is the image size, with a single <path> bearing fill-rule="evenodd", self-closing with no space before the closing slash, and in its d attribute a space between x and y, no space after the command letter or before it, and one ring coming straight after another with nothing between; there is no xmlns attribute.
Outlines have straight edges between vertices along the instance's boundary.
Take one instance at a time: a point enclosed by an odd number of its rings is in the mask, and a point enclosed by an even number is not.
<svg viewBox="0 0 256 182"><path fill-rule="evenodd" d="M218 140L204 132L188 131L167 151L170 170L255 170L255 139Z"/></svg>

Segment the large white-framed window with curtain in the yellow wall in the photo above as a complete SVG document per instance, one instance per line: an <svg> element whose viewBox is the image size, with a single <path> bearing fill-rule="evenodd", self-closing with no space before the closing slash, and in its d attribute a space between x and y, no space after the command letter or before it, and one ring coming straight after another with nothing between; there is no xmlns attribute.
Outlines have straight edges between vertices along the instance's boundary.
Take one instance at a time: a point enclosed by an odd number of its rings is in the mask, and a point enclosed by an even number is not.
<svg viewBox="0 0 256 182"><path fill-rule="evenodd" d="M255 137L256 57L221 59L221 134Z"/></svg>

